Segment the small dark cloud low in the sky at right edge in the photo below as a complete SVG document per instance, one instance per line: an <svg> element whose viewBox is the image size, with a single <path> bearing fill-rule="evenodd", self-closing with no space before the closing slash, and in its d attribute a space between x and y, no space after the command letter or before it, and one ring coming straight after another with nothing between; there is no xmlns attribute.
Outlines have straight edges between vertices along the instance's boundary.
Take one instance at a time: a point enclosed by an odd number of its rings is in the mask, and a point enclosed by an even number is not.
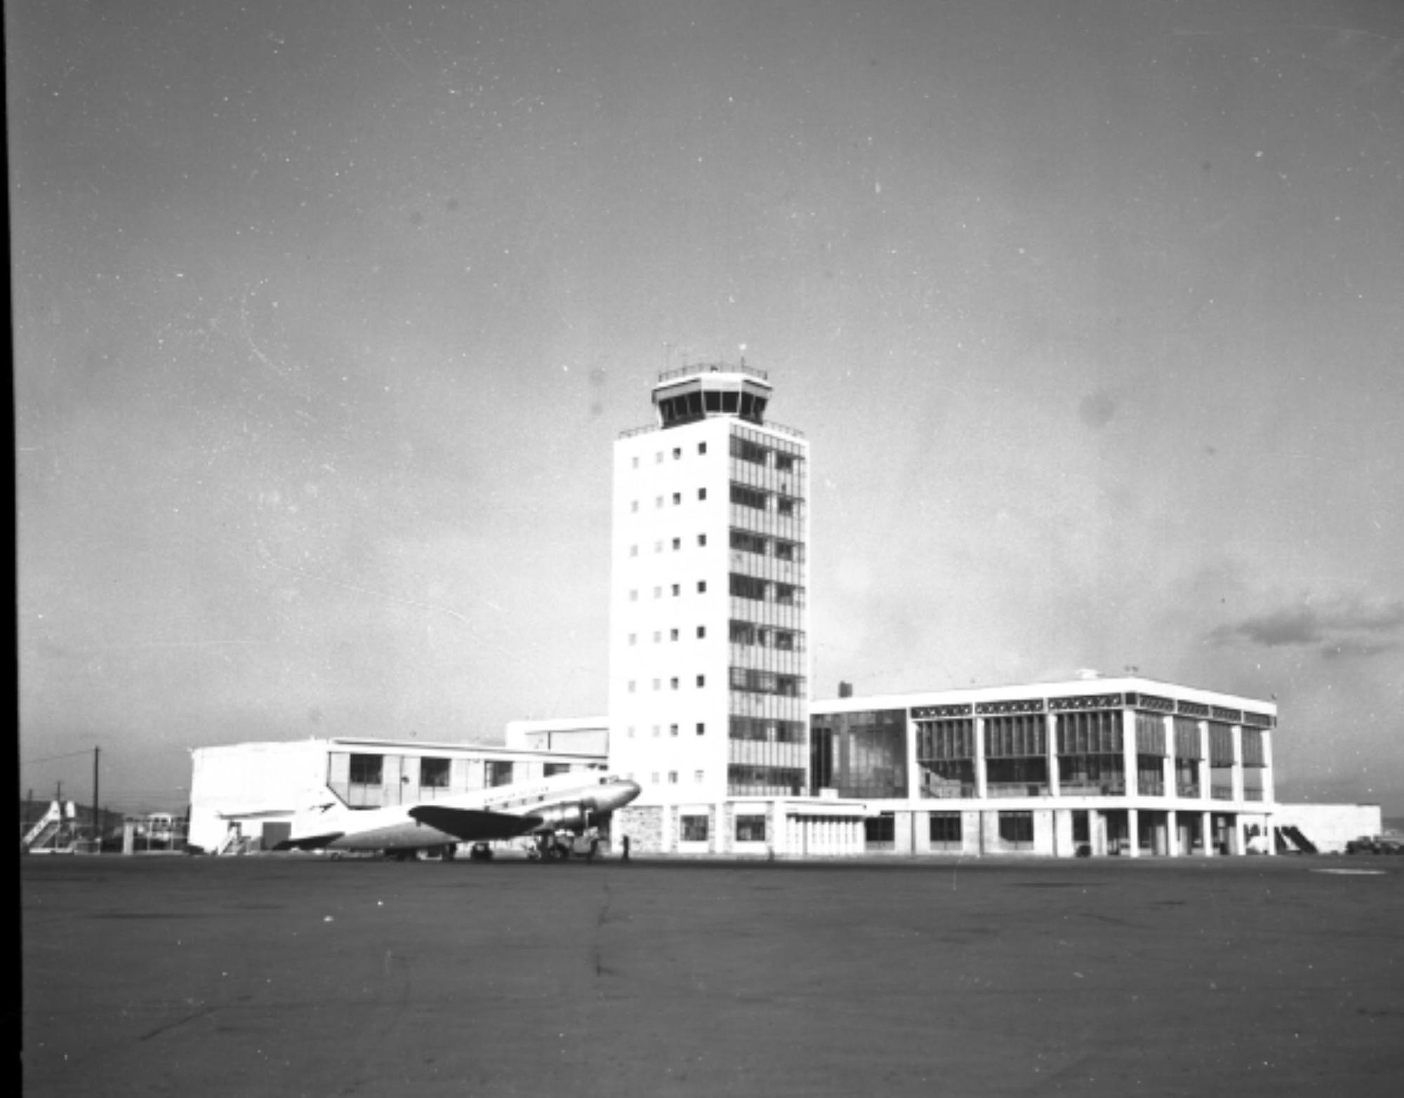
<svg viewBox="0 0 1404 1098"><path fill-rule="evenodd" d="M1323 659L1365 659L1400 647L1404 600L1313 598L1220 625L1209 642L1221 647L1311 647Z"/></svg>

